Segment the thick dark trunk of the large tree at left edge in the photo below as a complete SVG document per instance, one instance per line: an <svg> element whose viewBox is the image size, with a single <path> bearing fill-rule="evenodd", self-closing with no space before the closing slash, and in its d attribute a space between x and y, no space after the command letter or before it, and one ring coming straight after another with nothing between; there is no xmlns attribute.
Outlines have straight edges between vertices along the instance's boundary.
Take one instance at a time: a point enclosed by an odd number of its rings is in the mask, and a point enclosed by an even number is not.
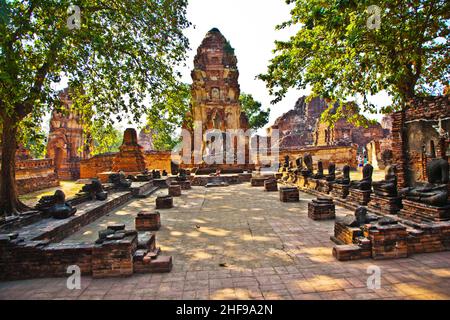
<svg viewBox="0 0 450 320"><path fill-rule="evenodd" d="M2 162L0 174L0 219L25 211L27 207L19 201L16 185L17 123L3 118Z"/></svg>

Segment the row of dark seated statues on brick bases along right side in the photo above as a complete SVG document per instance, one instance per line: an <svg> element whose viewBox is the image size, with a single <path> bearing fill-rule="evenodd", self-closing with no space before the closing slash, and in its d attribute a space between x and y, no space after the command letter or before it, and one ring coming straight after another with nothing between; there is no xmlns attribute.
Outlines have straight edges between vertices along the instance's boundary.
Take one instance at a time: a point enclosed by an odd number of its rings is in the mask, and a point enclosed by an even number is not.
<svg viewBox="0 0 450 320"><path fill-rule="evenodd" d="M337 174L336 166L330 163L328 174L324 174L323 164L318 161L318 169L314 173L309 154L304 158L297 158L296 167L292 167L288 159L286 156L284 165L279 170L282 182L345 199L346 204L353 204L353 207L368 205L369 209L382 214L400 213L405 217L416 217L416 220L450 219L449 165L445 159L433 159L428 163L427 183L417 183L415 187L403 189L397 187L395 165L386 168L384 180L372 181L373 167L366 164L362 170L362 179L352 181L350 167L347 165ZM407 207L402 203L406 203Z"/></svg>

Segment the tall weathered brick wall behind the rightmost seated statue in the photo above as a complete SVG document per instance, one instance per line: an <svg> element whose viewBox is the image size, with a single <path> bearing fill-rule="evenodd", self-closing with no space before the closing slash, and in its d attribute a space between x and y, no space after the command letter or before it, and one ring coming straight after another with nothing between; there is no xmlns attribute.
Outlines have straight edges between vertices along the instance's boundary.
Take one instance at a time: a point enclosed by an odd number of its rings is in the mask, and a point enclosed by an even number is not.
<svg viewBox="0 0 450 320"><path fill-rule="evenodd" d="M448 140L446 146L440 145L437 129L441 119L441 128L450 132L450 97L416 98L405 111L394 113L392 119L392 151L399 187L426 181L431 145L434 144L437 157L449 155Z"/></svg>

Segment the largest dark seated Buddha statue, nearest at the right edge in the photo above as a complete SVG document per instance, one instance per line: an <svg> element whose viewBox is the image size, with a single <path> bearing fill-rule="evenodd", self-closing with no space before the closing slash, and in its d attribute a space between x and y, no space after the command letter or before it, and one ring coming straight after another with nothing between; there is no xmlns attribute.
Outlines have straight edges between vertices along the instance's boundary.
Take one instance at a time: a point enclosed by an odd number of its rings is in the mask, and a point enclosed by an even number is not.
<svg viewBox="0 0 450 320"><path fill-rule="evenodd" d="M433 159L427 164L428 183L400 190L403 198L431 206L448 205L449 165L445 159Z"/></svg>

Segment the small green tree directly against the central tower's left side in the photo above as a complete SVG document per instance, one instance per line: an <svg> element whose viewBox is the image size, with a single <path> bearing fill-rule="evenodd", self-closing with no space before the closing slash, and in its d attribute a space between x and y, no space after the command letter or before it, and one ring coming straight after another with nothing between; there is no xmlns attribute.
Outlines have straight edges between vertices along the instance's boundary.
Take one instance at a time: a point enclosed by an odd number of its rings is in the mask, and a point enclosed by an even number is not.
<svg viewBox="0 0 450 320"><path fill-rule="evenodd" d="M191 100L191 86L180 84L168 88L161 97L162 99L148 110L145 129L152 132L153 146L156 150L172 150L180 142L177 128L186 120Z"/></svg>

